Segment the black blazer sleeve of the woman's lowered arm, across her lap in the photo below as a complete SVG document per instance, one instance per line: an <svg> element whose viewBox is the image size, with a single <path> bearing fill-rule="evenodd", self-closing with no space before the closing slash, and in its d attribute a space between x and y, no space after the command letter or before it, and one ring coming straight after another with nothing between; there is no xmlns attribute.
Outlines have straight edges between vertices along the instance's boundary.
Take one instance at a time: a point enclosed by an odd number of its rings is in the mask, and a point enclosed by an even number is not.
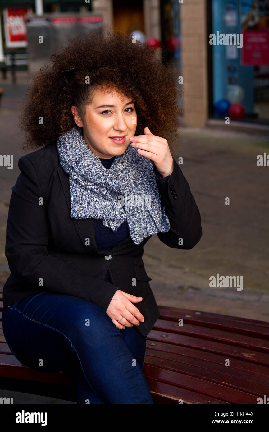
<svg viewBox="0 0 269 432"><path fill-rule="evenodd" d="M11 273L37 291L73 295L97 303L106 311L119 288L48 254L47 191L41 190L27 155L19 159L19 169L6 226L5 255Z"/></svg>

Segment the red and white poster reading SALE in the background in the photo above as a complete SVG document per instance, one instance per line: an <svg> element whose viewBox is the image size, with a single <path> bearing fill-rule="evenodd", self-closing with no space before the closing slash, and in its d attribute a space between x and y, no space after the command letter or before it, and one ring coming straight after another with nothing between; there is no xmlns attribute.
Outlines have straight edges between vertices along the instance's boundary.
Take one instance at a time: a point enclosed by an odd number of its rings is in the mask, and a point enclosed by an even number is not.
<svg viewBox="0 0 269 432"><path fill-rule="evenodd" d="M6 47L26 47L27 32L25 25L25 15L30 13L28 7L16 7L4 9L4 23Z"/></svg>

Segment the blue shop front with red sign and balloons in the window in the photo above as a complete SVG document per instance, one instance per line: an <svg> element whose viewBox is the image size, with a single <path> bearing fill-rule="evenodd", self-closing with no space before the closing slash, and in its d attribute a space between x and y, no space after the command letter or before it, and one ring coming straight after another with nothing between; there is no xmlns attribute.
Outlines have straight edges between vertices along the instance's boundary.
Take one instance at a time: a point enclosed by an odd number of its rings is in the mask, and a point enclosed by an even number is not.
<svg viewBox="0 0 269 432"><path fill-rule="evenodd" d="M211 7L209 116L269 124L269 0L212 0Z"/></svg>

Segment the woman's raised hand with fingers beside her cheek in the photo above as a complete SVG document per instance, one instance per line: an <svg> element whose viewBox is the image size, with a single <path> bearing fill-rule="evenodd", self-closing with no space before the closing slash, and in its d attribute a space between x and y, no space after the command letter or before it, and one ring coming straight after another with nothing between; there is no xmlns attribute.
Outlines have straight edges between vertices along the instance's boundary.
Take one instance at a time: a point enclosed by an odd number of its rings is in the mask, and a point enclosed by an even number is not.
<svg viewBox="0 0 269 432"><path fill-rule="evenodd" d="M153 135L148 127L145 127L144 132L145 135L129 138L130 141L133 141L132 147L136 147L140 155L151 159L163 177L171 175L174 168L174 159L167 140Z"/></svg>

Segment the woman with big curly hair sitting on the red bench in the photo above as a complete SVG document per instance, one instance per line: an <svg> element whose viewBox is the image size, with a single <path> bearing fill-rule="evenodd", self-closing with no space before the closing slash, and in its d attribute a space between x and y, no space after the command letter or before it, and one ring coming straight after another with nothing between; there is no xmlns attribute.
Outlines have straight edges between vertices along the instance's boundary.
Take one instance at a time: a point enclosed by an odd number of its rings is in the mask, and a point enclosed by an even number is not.
<svg viewBox="0 0 269 432"><path fill-rule="evenodd" d="M159 311L143 245L157 233L190 249L202 235L168 146L177 72L120 32L79 36L51 60L21 116L41 148L12 188L3 332L22 364L64 371L77 403L153 403L142 367Z"/></svg>

